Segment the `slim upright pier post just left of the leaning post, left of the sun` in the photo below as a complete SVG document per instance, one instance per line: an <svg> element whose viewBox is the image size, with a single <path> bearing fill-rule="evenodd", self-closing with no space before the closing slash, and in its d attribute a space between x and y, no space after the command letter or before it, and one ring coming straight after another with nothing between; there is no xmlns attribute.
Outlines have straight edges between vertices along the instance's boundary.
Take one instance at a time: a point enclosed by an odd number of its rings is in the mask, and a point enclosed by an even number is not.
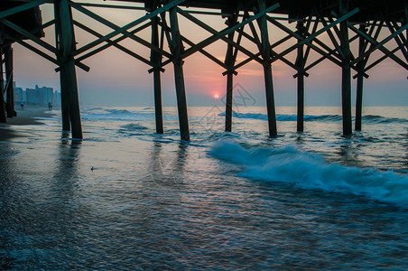
<svg viewBox="0 0 408 271"><path fill-rule="evenodd" d="M156 8L156 6L154 7ZM152 44L159 47L159 17L152 18ZM162 65L162 55L158 51L151 51L151 61L153 62L153 89L154 89L154 110L156 117L156 133L163 134L162 126L162 81L160 68Z"/></svg>

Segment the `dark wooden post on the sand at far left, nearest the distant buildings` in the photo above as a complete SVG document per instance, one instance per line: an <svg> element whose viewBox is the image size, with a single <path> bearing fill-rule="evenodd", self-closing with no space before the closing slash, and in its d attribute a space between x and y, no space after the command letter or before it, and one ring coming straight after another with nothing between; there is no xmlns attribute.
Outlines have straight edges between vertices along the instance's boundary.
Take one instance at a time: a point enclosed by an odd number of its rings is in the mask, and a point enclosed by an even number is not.
<svg viewBox="0 0 408 271"><path fill-rule="evenodd" d="M7 117L16 117L14 111L14 76L13 76L13 48L9 44L5 47L5 96L7 103L5 105L5 112Z"/></svg>

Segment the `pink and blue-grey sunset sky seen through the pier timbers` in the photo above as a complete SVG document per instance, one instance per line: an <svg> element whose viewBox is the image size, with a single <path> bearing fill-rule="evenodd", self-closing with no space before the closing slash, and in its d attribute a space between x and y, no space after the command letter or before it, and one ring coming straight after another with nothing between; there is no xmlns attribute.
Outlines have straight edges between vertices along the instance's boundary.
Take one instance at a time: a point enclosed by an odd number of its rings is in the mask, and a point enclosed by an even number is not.
<svg viewBox="0 0 408 271"><path fill-rule="evenodd" d="M144 14L134 11L100 8L91 10L118 25L129 23L134 18ZM42 5L44 23L52 19L52 14L51 5ZM226 27L225 19L220 16L197 16L215 29L220 30ZM74 11L74 18L100 33L112 31L76 11ZM179 19L181 34L187 36L191 41L199 42L210 36L210 33L200 29L194 23L188 22L185 18ZM287 25L292 29L294 27L294 23ZM75 31L78 48L95 40L93 36L77 28ZM52 27L48 28L44 38L45 41L51 44L54 44L53 32ZM248 29L247 32L249 32ZM271 43L283 38L282 31L276 28L270 27L269 33ZM140 33L140 36L149 41L150 30ZM294 39L291 42L284 43L283 46L278 47L277 51L283 51L291 46ZM149 59L150 52L143 46L129 40L125 40L121 44ZM243 41L243 45L248 50L257 52L255 45L251 44L251 42ZM391 43L389 48L394 49L393 46L393 43ZM351 44L351 47L355 50L356 44ZM224 59L226 49L226 42L222 41L215 42L209 48L206 48L219 60ZM376 53L376 56L381 56L381 53ZM317 59L317 57L317 53L311 53L309 63ZM289 54L288 58L294 61L295 53ZM244 59L242 53L238 54L238 61ZM222 99L225 96L227 78L222 76L222 72L225 71L222 67L199 52L184 61L184 79L189 106L212 106L216 99ZM143 62L134 60L125 52L111 47L88 58L84 63L90 67L89 72L77 68L81 105L153 106L153 75L147 72L150 67ZM39 85L40 87L46 86L60 91L60 76L58 72L55 72L55 68L57 68L55 64L14 43L14 80L18 87L25 89ZM163 106L176 106L172 64L167 65L164 69L165 72L162 73ZM261 64L251 61L236 71L238 72L234 77L236 89L249 93L255 101L253 106L264 106L264 72ZM305 105L340 106L341 69L329 61L323 61L309 70L309 73L310 76L305 79ZM282 61L276 61L273 64L273 74L276 106L296 106L296 79L292 77L295 74L294 70ZM394 61L387 60L377 65L376 68L369 70L368 74L370 77L364 82L364 106L408 106L407 70L404 70ZM356 84L357 81L353 79L353 104L356 97Z"/></svg>

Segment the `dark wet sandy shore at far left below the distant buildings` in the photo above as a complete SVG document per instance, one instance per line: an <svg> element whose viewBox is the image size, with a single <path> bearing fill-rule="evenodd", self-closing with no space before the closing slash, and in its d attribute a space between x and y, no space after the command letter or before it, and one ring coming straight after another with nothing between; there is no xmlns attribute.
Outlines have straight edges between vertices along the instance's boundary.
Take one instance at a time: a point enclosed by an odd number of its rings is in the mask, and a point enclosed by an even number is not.
<svg viewBox="0 0 408 271"><path fill-rule="evenodd" d="M47 112L47 107L15 107L17 117L7 117L7 123L0 123L0 141L7 141L19 134L18 127L24 125L41 125L42 122L33 117L51 117L52 114Z"/></svg>

